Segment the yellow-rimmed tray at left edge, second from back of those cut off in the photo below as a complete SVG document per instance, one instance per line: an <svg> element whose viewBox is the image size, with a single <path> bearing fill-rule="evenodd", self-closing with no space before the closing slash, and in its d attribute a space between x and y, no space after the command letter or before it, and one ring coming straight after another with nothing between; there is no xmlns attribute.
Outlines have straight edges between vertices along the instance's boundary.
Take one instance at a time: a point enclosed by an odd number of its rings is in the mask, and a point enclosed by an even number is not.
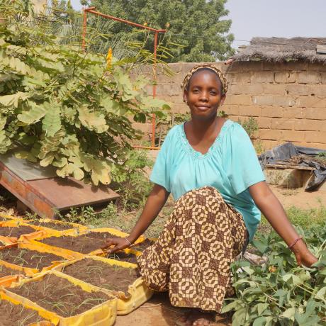
<svg viewBox="0 0 326 326"><path fill-rule="evenodd" d="M0 247L0 257L2 265L22 271L27 276L50 270L62 264L64 260L75 258L51 248L42 248L33 243L23 242Z"/></svg>

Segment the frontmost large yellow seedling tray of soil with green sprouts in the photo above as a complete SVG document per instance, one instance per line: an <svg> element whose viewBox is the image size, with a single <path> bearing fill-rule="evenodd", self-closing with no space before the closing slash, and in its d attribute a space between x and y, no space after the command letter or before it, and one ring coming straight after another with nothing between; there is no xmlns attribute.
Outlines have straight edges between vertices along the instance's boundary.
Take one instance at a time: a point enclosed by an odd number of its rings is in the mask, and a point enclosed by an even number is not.
<svg viewBox="0 0 326 326"><path fill-rule="evenodd" d="M55 325L110 326L116 320L116 297L57 271L47 271L13 283L11 288L2 288L1 297L38 310ZM91 304L96 301L99 304Z"/></svg>

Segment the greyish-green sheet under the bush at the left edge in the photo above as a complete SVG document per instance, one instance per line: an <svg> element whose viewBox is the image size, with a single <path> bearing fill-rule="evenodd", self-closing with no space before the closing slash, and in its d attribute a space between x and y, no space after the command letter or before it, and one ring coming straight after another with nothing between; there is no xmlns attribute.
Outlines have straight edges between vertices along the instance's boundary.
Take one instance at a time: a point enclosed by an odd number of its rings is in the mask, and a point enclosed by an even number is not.
<svg viewBox="0 0 326 326"><path fill-rule="evenodd" d="M26 159L17 159L12 153L1 154L0 162L23 181L52 178L57 175L55 167L40 167Z"/></svg>

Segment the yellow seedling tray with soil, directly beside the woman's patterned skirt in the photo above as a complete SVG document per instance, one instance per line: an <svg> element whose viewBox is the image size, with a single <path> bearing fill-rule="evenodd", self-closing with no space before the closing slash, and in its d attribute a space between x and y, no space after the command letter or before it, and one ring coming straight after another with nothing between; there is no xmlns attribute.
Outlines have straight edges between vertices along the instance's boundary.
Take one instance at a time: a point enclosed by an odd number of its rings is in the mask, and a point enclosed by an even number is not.
<svg viewBox="0 0 326 326"><path fill-rule="evenodd" d="M137 272L137 265L117 262L103 257L86 256L64 262L55 267L72 278L79 279L102 291L118 297L117 314L126 315L145 303L152 296Z"/></svg>

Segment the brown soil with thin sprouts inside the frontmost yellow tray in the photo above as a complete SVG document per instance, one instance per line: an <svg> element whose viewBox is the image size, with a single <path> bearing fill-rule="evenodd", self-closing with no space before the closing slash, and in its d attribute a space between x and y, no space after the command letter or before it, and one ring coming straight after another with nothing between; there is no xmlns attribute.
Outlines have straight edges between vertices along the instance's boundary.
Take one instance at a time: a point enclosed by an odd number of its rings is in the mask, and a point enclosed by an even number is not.
<svg viewBox="0 0 326 326"><path fill-rule="evenodd" d="M40 281L31 281L10 291L62 317L84 313L110 299L106 293L83 291L79 286L55 275L46 275Z"/></svg>

